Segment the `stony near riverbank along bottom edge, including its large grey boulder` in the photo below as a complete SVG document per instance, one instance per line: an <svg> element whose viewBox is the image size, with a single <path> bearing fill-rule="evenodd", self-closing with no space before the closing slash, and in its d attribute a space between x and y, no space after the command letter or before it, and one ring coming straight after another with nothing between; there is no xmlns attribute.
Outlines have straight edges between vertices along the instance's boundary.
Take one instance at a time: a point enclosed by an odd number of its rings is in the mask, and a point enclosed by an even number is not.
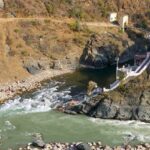
<svg viewBox="0 0 150 150"><path fill-rule="evenodd" d="M122 146L110 147L98 142L78 142L78 143L57 143L50 142L46 144L40 133L33 135L32 143L29 143L24 148L19 150L150 150L150 144L144 143L136 146L131 146L124 143Z"/></svg>

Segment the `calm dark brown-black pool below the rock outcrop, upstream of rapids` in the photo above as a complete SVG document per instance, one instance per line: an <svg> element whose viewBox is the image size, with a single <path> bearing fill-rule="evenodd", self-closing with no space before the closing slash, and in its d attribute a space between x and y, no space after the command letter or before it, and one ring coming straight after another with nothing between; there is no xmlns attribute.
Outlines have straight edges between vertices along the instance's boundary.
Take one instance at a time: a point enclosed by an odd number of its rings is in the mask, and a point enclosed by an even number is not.
<svg viewBox="0 0 150 150"><path fill-rule="evenodd" d="M110 83L115 81L116 67L110 66L104 69L80 69L68 75L54 78L57 81L65 82L65 87L72 87L71 93L85 92L88 82L94 81L100 87L108 87ZM62 86L61 88L64 88ZM60 88L60 89L61 89Z"/></svg>

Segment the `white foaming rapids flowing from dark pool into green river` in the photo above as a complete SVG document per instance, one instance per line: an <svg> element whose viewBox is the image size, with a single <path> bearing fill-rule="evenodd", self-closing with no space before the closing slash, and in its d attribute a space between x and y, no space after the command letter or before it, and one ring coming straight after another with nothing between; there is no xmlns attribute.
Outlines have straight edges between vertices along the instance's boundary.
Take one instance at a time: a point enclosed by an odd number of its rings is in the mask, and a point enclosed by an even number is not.
<svg viewBox="0 0 150 150"><path fill-rule="evenodd" d="M52 82L48 87L38 90L29 98L20 97L9 100L0 107L0 112L31 113L46 112L55 108L57 104L72 98L70 88L58 91L59 82Z"/></svg>

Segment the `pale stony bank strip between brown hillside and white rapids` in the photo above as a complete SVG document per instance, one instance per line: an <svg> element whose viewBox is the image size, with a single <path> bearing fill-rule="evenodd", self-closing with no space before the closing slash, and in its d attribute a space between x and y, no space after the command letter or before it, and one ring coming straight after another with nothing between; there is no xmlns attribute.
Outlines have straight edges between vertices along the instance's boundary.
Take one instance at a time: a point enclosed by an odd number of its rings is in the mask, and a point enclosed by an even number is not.
<svg viewBox="0 0 150 150"><path fill-rule="evenodd" d="M16 81L13 83L6 83L0 85L0 103L4 103L5 100L14 97L17 94L31 91L41 86L41 82L52 77L62 75L65 73L71 73L73 70L46 70L36 75L32 75L25 80Z"/></svg>

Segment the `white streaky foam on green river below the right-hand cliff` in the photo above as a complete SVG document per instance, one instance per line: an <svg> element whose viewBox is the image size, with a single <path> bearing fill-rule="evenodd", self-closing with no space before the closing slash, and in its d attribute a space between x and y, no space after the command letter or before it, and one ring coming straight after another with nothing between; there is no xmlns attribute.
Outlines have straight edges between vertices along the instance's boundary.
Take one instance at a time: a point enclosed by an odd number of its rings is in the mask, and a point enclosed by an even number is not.
<svg viewBox="0 0 150 150"><path fill-rule="evenodd" d="M119 121L119 120L102 120L98 118L90 118L91 122L99 125L112 126L112 128L118 128L116 134L121 135L126 143L139 141L149 142L150 135L148 130L150 129L150 123L144 123L141 121ZM147 132L145 132L147 130Z"/></svg>

